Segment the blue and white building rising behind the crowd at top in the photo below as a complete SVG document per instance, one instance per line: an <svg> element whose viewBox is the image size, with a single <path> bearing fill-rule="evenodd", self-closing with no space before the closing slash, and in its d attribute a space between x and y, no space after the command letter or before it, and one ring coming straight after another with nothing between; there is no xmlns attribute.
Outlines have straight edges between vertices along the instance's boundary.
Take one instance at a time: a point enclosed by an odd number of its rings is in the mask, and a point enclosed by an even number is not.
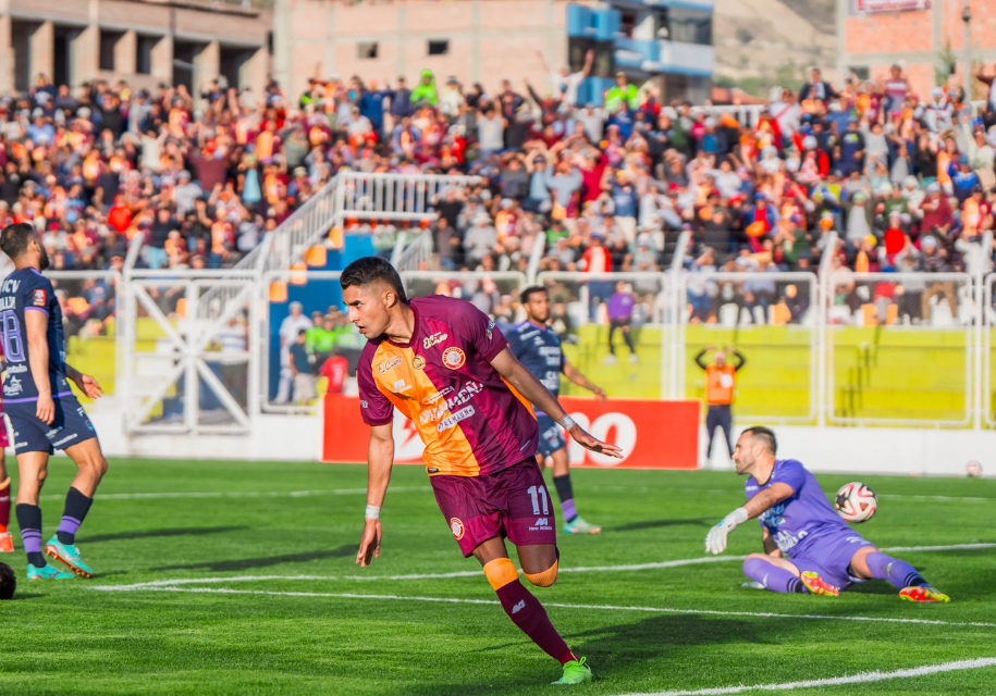
<svg viewBox="0 0 996 696"><path fill-rule="evenodd" d="M632 83L659 78L665 98L700 101L709 96L715 50L713 0L605 0L597 7L567 5L571 72L594 62L578 90L581 104L601 104L617 72Z"/></svg>

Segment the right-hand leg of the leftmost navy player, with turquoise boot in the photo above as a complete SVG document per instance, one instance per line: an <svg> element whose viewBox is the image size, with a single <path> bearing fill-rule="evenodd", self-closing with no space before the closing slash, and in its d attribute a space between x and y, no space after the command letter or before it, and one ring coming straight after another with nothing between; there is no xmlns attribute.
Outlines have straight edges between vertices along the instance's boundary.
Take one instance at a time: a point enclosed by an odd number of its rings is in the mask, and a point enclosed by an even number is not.
<svg viewBox="0 0 996 696"><path fill-rule="evenodd" d="M107 473L107 459L103 458L96 437L67 447L65 453L76 464L76 475L65 496L59 529L45 545L45 552L62 561L77 575L93 577L93 569L83 561L79 549L76 548L76 532L89 512L100 480Z"/></svg>

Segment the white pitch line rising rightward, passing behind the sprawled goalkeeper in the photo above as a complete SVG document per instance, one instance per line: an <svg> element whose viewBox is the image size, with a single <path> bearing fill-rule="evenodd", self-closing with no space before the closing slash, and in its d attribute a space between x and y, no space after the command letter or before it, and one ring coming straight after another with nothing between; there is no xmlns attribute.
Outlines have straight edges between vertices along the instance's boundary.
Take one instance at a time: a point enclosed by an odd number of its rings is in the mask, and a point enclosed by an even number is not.
<svg viewBox="0 0 996 696"><path fill-rule="evenodd" d="M984 544L951 544L948 546L893 546L884 548L884 551L955 551L961 549L985 549L996 548L996 543ZM683 558L673 561L657 561L653 563L634 563L626 566L580 566L578 568L562 568L562 573L613 573L620 571L634 570L655 570L660 568L679 568L681 566L697 566L699 563L729 563L740 562L741 556L702 556L700 558ZM521 570L519 571L521 572ZM147 583L134 583L131 585L98 585L93 589L104 591L128 591L144 589L146 587L162 587L167 585L207 585L226 582L251 582L267 580L355 580L359 582L369 582L378 580L405 581L405 580L445 580L450 577L479 577L481 574L477 570L463 570L450 573L408 573L405 575L232 575L229 577L184 577L177 580L157 580Z"/></svg>

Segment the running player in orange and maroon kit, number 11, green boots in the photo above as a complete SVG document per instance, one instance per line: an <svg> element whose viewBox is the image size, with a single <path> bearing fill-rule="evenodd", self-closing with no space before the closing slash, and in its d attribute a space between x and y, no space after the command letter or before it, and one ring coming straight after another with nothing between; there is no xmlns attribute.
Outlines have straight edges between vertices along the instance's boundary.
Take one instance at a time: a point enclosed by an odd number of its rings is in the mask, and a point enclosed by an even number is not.
<svg viewBox="0 0 996 696"><path fill-rule="evenodd" d="M460 551L480 561L512 621L561 662L564 673L555 683L590 682L586 659L567 647L519 582L505 537L529 582L554 583L556 520L536 462L539 433L530 403L583 447L614 457L619 448L571 421L515 359L494 321L469 302L436 295L409 302L397 272L377 257L346 266L340 285L349 321L368 341L356 372L370 425L367 512L356 562L366 567L380 555L397 408L426 445L429 481Z"/></svg>

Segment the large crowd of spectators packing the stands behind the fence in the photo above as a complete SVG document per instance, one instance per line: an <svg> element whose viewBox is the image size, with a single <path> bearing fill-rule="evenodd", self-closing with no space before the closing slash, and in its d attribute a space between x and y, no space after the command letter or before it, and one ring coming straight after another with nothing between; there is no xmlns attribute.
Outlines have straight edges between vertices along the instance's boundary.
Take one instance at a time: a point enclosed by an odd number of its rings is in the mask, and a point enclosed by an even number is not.
<svg viewBox="0 0 996 696"><path fill-rule="evenodd" d="M410 86L316 78L294 98L275 83L256 95L218 78L195 99L183 85L72 91L38 76L0 99L0 224L35 224L53 269L120 265L136 236L142 265L225 268L344 169L458 172L479 183L432 201L432 268L525 270L542 240L543 271L657 271L688 231L693 273L807 271L826 253L841 272L992 270L981 245L996 186L992 99L973 115L957 89L913 94L900 66L840 84L814 70L741 123L622 73L578 103L590 67L591 55L552 71L540 55L534 82L494 90L431 71ZM388 248L391 229L377 234ZM604 285L600 300L615 290ZM693 285L693 320L715 321L722 284ZM734 286L762 321L773 304L796 316L809 303L804 284ZM868 303L862 287L840 306ZM88 289L76 313L102 321L112 293ZM478 291L489 310L505 301ZM907 315L926 319L927 303L954 295L942 288Z"/></svg>

